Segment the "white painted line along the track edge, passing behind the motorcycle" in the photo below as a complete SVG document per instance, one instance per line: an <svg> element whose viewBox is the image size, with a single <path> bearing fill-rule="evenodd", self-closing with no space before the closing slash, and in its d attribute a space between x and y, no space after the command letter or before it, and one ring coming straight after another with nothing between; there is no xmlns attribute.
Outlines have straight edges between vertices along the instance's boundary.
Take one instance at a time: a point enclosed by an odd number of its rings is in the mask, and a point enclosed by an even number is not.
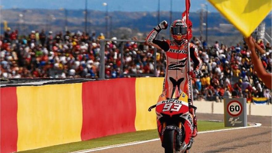
<svg viewBox="0 0 272 153"><path fill-rule="evenodd" d="M210 121L212 121L212 120L210 120ZM198 132L198 134L210 133L210 132L219 132L219 131L227 131L227 130L236 130L236 129L245 129L245 128L261 126L261 123L254 123L254 124L256 124L256 125L246 126L246 127L236 127L236 128L230 128L230 129L202 131L202 132ZM93 152L93 151L100 151L100 150L105 150L105 149L110 149L110 148L125 147L125 146L131 146L131 145L136 145L136 144L141 144L141 143L146 143L146 142L152 142L152 141L158 141L158 140L159 140L159 138L156 138L156 139L151 139L151 140L146 140L146 141L139 141L139 142L133 142L133 143L120 144L120 145L116 145L116 146L102 147L102 148L98 148L98 149L89 149L89 150L85 150L85 151L77 151L77 152L74 152L74 153L87 153L87 152Z"/></svg>

